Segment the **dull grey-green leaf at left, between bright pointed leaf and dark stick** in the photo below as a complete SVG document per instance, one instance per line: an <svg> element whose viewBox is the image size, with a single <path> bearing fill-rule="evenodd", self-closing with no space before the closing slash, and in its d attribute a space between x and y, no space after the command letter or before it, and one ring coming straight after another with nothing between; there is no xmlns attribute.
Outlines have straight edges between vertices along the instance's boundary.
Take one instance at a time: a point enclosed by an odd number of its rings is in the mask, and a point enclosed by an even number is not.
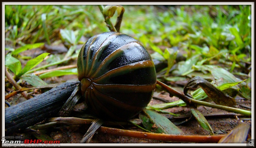
<svg viewBox="0 0 256 148"><path fill-rule="evenodd" d="M40 79L38 76L34 74L24 74L20 77L21 80L24 80L31 84L34 87L46 86L48 85L45 81Z"/></svg>

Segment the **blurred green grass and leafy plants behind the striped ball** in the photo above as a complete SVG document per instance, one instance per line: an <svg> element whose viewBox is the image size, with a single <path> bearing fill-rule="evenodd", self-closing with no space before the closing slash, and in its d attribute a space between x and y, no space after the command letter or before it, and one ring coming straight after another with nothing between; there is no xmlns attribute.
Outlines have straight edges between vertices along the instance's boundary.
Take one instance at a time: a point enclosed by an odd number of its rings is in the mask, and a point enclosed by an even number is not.
<svg viewBox="0 0 256 148"><path fill-rule="evenodd" d="M246 89L239 91L245 92L244 97L251 96L251 5L123 7L120 32L138 39L151 53L159 80L177 82L201 76L209 81L224 78L220 82L224 83L247 79ZM109 31L97 5L5 5L4 9L5 66L14 73L15 80L35 87L38 81L45 84L41 79L47 77L76 75L75 67L35 72L69 65L87 39ZM113 23L116 17L111 18ZM68 50L54 53L45 50L49 46ZM39 53L23 54L34 48L51 54L39 52L40 58ZM39 59L45 57L40 63ZM28 61L33 61L32 66L27 66ZM13 68L19 62L22 66Z"/></svg>

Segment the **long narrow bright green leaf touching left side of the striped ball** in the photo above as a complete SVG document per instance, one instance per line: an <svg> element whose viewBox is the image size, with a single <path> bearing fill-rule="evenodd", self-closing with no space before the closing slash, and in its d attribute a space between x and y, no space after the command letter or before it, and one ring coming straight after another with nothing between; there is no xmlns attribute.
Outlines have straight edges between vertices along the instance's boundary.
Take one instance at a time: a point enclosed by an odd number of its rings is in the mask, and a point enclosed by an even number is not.
<svg viewBox="0 0 256 148"><path fill-rule="evenodd" d="M72 69L65 69L65 70L55 70L51 72L47 72L44 74L40 74L40 78L49 78L49 77L58 77L58 76L63 76L63 75L70 75L70 74L77 74L77 68L72 68Z"/></svg>

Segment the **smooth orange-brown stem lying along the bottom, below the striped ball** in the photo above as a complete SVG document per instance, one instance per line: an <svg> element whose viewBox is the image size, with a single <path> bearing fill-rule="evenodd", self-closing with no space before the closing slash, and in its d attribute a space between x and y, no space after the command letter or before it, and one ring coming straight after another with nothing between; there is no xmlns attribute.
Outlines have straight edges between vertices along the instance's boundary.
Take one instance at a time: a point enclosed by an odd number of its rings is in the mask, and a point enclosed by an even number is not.
<svg viewBox="0 0 256 148"><path fill-rule="evenodd" d="M219 140L226 135L216 135L216 136L201 136L201 135L169 135L169 134L158 134L149 133L133 130L122 130L116 128L109 128L101 126L98 129L99 132L108 133L118 136L127 136L135 138L145 138L161 141L175 141L175 142L196 142L196 143L217 143Z"/></svg>

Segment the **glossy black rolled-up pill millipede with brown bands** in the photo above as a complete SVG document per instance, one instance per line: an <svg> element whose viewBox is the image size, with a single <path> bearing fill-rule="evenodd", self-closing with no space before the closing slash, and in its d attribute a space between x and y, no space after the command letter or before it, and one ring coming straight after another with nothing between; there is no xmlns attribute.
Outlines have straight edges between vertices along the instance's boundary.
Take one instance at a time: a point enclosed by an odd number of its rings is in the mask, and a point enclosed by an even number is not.
<svg viewBox="0 0 256 148"><path fill-rule="evenodd" d="M150 54L136 39L119 32L90 38L78 55L77 72L88 109L101 118L137 115L156 85Z"/></svg>

